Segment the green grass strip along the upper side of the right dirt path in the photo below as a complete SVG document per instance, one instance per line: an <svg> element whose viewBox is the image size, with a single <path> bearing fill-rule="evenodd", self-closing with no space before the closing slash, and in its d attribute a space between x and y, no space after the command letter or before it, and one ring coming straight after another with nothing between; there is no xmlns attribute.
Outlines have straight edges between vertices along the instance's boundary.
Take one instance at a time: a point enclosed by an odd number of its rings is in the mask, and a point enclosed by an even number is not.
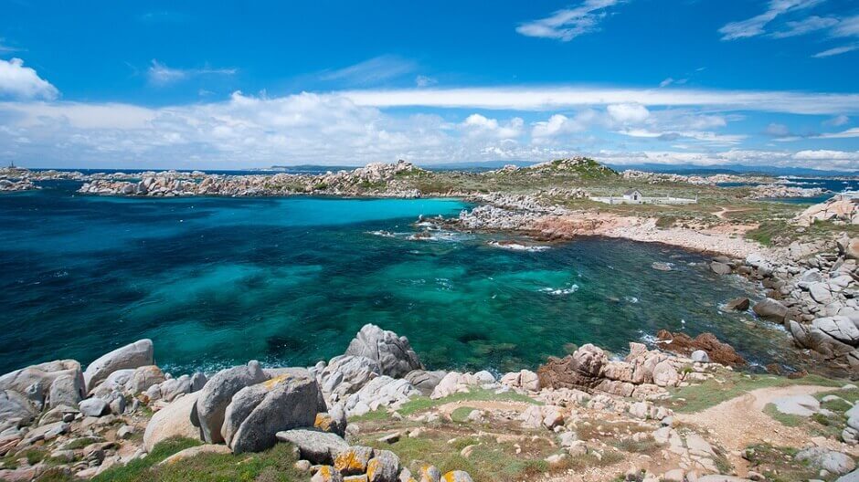
<svg viewBox="0 0 859 482"><path fill-rule="evenodd" d="M664 404L672 408L674 412L694 414L758 388L791 385L840 387L844 384L841 380L832 380L819 375L790 379L766 374L728 372L725 376L718 378L722 380L707 380L703 383L672 389L671 398Z"/></svg>

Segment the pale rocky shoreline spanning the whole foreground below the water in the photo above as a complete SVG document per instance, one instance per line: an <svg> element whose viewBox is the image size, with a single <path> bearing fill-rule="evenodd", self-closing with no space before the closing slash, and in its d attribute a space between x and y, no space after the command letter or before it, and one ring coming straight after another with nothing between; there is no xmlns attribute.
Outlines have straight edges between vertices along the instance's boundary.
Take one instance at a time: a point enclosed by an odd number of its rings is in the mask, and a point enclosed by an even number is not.
<svg viewBox="0 0 859 482"><path fill-rule="evenodd" d="M174 378L154 364L152 341L136 341L91 361L85 370L78 361L63 360L0 376L0 479L99 477L183 437L196 445L149 470L203 454L254 454L287 444L298 458L293 468L313 481L468 482L472 477L463 470L442 474L431 461L401 460L392 450L361 445L362 417L384 413L393 423L403 421L408 428L376 440L393 449L401 437L419 440L451 419L444 410L399 414L415 397L442 403L462 394L494 393L533 402L515 405L513 413L509 403L483 403L483 409L469 409L467 423L493 420L518 427L532 440L557 440L546 456L550 472L552 467L563 472L570 460L596 460L616 450L599 438L578 437L577 430L588 426L583 420L597 417L640 425L634 434L620 435L630 444L664 447L664 462L636 458L642 465L623 468L624 480L761 480L750 471L743 474L748 479L724 475L724 456L705 437L675 425L673 411L663 403L673 389L731 373L711 358L741 359L712 336L692 340L669 334L659 346L662 350L648 350L630 343L629 354L617 358L586 344L563 359L549 358L536 372L496 377L427 371L406 337L368 324L343 355L313 367L263 368L249 361ZM838 461L827 473L854 470L859 432L851 427L859 424L859 413L851 416L855 423L847 421L842 445L826 443L810 452L822 450L827 460ZM470 446L461 450L463 460L474 449ZM10 462L15 466L5 466Z"/></svg>

